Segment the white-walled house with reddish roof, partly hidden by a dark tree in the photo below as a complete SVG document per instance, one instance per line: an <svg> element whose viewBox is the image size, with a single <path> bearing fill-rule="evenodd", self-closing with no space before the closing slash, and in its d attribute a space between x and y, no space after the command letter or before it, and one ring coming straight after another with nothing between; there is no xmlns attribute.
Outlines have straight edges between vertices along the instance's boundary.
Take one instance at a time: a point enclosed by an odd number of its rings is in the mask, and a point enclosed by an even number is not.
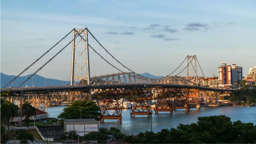
<svg viewBox="0 0 256 144"><path fill-rule="evenodd" d="M43 119L43 118L48 118L47 112L44 112L40 109L35 109L35 114L36 114L35 116L32 116L29 119L35 120L35 121L41 121L41 119ZM20 114L15 115L13 120L11 120L11 122L19 122L20 121L20 116L19 115ZM35 119L34 119L34 117L35 117ZM23 119L25 119L25 117L23 117Z"/></svg>

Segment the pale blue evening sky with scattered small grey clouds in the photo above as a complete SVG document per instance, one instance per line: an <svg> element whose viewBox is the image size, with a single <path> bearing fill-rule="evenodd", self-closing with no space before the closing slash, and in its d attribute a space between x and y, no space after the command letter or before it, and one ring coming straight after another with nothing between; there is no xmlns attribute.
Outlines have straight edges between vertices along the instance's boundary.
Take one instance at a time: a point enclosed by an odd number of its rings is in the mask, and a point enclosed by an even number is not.
<svg viewBox="0 0 256 144"><path fill-rule="evenodd" d="M1 72L18 75L73 28L87 27L111 55L137 73L166 76L187 55L196 55L207 77L212 71L217 75L223 61L242 66L246 76L256 65L255 7L255 0L2 0ZM34 73L72 39L71 33L23 75ZM91 35L88 43L129 72ZM72 43L37 74L70 80L71 57ZM91 76L119 72L90 48L89 61ZM186 61L172 75L185 67ZM185 76L186 69L179 75ZM198 76L203 76L200 68Z"/></svg>

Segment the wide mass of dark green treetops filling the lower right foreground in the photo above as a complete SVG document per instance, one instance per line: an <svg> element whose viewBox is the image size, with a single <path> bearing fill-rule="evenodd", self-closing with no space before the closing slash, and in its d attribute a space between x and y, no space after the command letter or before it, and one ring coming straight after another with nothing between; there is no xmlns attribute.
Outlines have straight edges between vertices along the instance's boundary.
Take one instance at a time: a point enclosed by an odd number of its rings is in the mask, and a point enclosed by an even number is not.
<svg viewBox="0 0 256 144"><path fill-rule="evenodd" d="M197 123L179 124L177 129L163 129L161 132L140 132L126 141L134 144L201 144L201 143L255 143L256 125L253 123L232 123L224 115L198 117Z"/></svg>

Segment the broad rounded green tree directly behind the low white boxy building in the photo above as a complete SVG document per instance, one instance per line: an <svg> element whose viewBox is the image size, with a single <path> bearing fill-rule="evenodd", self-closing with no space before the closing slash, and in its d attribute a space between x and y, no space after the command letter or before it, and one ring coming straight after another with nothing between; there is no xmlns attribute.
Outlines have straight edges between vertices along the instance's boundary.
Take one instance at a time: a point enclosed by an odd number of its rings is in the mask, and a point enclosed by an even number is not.
<svg viewBox="0 0 256 144"><path fill-rule="evenodd" d="M81 110L81 111L80 111ZM80 119L80 118L95 118L100 120L100 109L93 101L75 101L68 107L63 109L63 112L58 115L61 119Z"/></svg>

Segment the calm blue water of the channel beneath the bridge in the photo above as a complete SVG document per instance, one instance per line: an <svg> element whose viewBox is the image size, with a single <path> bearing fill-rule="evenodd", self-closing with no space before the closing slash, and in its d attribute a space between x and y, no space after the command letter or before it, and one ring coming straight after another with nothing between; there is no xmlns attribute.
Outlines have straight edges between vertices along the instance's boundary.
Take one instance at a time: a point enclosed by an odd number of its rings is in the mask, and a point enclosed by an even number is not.
<svg viewBox="0 0 256 144"><path fill-rule="evenodd" d="M51 118L57 118L63 109L64 107L48 107L48 113ZM105 120L104 123L100 123L100 127L116 127L121 131L125 128L125 132L133 133L134 135L151 130L151 118L139 115L135 115L136 118L130 118L130 111L131 109L122 110L123 118L121 124L116 120ZM189 112L178 110L174 111L173 114L168 112L153 114L152 130L159 132L163 128L176 128L178 124L195 123L198 117L211 115L226 115L231 118L231 121L240 120L244 123L256 124L256 107L202 107L199 110L192 108Z"/></svg>

